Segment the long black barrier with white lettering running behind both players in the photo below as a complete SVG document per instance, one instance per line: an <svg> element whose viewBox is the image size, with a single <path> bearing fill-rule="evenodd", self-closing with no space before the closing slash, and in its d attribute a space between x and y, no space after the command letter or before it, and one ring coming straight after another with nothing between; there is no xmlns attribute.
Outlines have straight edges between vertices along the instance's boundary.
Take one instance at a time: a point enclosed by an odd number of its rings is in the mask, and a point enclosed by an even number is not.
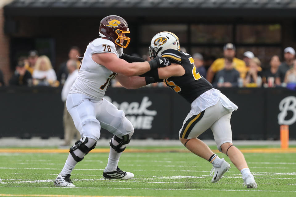
<svg viewBox="0 0 296 197"><path fill-rule="evenodd" d="M286 88L221 88L239 107L232 113L236 140L279 139L280 125L289 125L296 139L296 92ZM170 88L137 90L109 87L106 99L125 112L133 123L135 139L178 139L190 104ZM1 87L0 137L63 138L61 89L51 87ZM101 138L110 138L101 131ZM213 139L210 130L200 139Z"/></svg>

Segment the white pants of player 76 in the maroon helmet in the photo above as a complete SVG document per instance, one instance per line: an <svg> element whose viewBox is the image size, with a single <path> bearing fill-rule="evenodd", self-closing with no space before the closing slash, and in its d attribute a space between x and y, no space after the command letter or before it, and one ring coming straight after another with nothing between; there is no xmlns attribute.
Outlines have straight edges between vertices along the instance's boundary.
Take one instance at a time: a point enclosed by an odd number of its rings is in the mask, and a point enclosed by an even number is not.
<svg viewBox="0 0 296 197"><path fill-rule="evenodd" d="M134 131L124 112L104 98L96 100L84 94L68 94L66 105L81 137L98 140L101 127L117 136Z"/></svg>

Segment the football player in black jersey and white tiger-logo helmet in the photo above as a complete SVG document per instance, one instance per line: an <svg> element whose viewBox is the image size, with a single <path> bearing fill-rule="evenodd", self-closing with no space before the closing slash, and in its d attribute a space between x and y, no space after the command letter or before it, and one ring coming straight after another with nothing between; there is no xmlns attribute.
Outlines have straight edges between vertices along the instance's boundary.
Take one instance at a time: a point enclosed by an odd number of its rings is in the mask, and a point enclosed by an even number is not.
<svg viewBox="0 0 296 197"><path fill-rule="evenodd" d="M149 51L151 59L165 57L171 65L150 70L142 76L145 76L146 84L165 82L191 103L191 111L179 131L179 139L191 152L212 163L212 183L216 183L229 170L230 165L224 158L220 159L214 154L207 144L197 139L208 128L212 129L219 151L226 154L241 171L247 188L257 188L244 155L232 144L230 118L238 107L196 71L194 59L190 54L180 51L179 38L175 34L167 31L156 34L152 38ZM126 54L121 58L128 62L144 61ZM118 78L120 77L119 75ZM133 83L129 84L129 88L138 88L142 83L131 84Z"/></svg>

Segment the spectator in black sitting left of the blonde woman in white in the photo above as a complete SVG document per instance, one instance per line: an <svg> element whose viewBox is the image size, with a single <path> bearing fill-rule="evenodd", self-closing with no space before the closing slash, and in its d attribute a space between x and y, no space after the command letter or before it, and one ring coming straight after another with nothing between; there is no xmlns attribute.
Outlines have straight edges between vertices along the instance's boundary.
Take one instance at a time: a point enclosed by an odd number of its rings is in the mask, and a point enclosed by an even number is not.
<svg viewBox="0 0 296 197"><path fill-rule="evenodd" d="M14 86L32 85L32 75L26 70L25 62L18 62L18 65L15 67L14 75L9 80L9 84Z"/></svg>

